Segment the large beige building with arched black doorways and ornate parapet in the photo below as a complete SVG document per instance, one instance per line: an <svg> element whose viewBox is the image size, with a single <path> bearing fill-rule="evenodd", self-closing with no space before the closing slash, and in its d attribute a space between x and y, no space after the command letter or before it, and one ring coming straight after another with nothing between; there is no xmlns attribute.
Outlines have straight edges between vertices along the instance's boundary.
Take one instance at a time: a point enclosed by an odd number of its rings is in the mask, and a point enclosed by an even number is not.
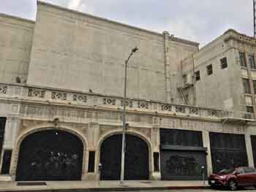
<svg viewBox="0 0 256 192"><path fill-rule="evenodd" d="M196 42L38 1L36 22L0 15L0 180L118 180L124 61L136 46L125 179L200 180L202 166L254 166L255 125L234 118L235 101L216 110L191 99L201 88L192 80L182 104Z"/></svg>

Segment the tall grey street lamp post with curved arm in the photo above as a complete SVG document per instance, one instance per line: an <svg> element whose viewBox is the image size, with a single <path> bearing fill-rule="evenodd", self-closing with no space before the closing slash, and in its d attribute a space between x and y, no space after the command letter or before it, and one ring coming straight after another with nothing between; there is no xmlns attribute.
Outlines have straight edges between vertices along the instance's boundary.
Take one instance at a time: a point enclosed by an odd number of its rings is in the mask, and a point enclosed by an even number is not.
<svg viewBox="0 0 256 192"><path fill-rule="evenodd" d="M122 142L121 142L121 176L120 176L120 183L124 183L124 157L125 157L125 128L126 128L126 121L125 121L125 115L126 115L126 107L127 107L127 64L129 61L129 58L132 56L133 53L136 53L138 50L138 47L135 47L132 49L132 52L129 54L129 57L125 61L125 72L124 72L124 101L123 101L123 135L122 135Z"/></svg>

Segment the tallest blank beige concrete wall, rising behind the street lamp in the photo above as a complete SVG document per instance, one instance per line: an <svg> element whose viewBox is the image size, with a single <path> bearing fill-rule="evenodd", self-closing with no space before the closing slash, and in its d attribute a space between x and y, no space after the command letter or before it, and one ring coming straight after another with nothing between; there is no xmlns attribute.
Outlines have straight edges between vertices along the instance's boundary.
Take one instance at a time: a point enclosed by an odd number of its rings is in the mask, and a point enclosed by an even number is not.
<svg viewBox="0 0 256 192"><path fill-rule="evenodd" d="M172 45L171 65L197 49L182 45ZM136 46L138 53L129 61L128 96L165 101L162 34L39 3L28 83L122 96L124 61Z"/></svg>

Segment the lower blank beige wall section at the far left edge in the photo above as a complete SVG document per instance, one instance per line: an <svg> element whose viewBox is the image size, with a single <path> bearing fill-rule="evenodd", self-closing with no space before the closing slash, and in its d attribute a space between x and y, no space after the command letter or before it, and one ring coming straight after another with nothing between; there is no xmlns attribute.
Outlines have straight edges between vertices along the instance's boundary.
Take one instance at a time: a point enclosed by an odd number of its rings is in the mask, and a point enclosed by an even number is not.
<svg viewBox="0 0 256 192"><path fill-rule="evenodd" d="M34 22L0 14L0 82L25 82Z"/></svg>

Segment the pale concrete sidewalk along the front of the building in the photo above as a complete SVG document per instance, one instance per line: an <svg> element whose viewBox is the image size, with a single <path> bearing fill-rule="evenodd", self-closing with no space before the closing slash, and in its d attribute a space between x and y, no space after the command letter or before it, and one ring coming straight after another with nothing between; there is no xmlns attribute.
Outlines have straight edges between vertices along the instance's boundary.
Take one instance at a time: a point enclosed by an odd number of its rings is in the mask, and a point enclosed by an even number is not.
<svg viewBox="0 0 256 192"><path fill-rule="evenodd" d="M132 180L120 185L119 181L47 181L47 185L17 185L17 182L0 182L0 191L147 191L171 189L203 189L203 181L150 181Z"/></svg>

